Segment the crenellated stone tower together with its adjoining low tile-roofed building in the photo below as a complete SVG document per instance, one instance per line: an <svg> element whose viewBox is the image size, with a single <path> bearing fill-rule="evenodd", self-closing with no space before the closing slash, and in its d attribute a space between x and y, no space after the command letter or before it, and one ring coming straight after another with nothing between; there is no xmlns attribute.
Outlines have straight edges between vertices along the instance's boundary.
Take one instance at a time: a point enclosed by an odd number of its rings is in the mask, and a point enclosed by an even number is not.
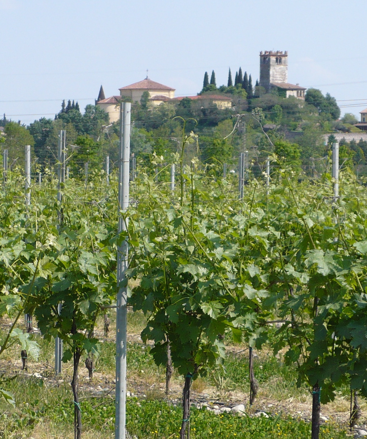
<svg viewBox="0 0 367 439"><path fill-rule="evenodd" d="M277 89L280 96L294 96L305 99L305 87L288 83L288 52L287 50L260 52L260 87L265 93ZM261 89L260 89L261 90Z"/></svg>

